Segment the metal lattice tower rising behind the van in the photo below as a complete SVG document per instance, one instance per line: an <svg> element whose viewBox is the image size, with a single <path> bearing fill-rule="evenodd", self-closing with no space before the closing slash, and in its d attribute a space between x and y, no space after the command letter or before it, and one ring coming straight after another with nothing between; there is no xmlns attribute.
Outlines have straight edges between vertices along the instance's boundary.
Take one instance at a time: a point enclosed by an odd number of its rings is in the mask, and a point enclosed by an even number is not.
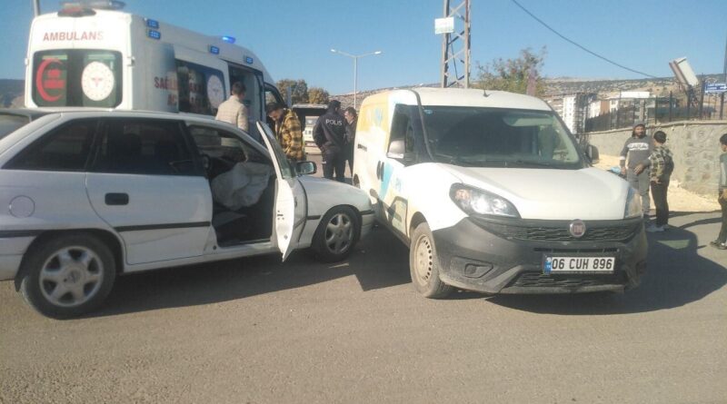
<svg viewBox="0 0 727 404"><path fill-rule="evenodd" d="M457 0L452 0L457 1ZM444 18L435 22L435 34L442 38L441 85L446 87L470 87L470 0L460 0L454 6L444 0ZM440 28L440 22L446 27ZM461 24L457 24L461 23ZM455 31L455 26L461 25ZM458 68L459 67L459 68Z"/></svg>

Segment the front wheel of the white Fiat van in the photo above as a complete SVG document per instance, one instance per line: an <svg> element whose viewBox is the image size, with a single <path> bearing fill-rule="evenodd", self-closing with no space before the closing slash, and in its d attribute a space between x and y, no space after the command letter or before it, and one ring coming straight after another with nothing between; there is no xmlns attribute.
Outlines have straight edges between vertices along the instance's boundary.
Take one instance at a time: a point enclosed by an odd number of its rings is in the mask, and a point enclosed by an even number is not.
<svg viewBox="0 0 727 404"><path fill-rule="evenodd" d="M442 299L453 291L439 277L439 259L429 225L420 223L414 229L409 246L409 272L416 291L429 299Z"/></svg>

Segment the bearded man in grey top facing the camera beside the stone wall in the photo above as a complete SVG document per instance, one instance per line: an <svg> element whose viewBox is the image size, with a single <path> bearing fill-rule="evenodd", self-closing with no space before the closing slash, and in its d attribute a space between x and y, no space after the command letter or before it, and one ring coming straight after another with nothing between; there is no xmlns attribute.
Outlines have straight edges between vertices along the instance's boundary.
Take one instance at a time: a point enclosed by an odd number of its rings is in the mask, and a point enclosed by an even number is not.
<svg viewBox="0 0 727 404"><path fill-rule="evenodd" d="M649 156L652 154L652 139L646 135L643 123L633 125L631 137L623 144L619 156L621 174L626 174L626 181L642 196L644 219L649 217ZM628 157L628 166L626 160ZM628 167L628 170L627 170Z"/></svg>

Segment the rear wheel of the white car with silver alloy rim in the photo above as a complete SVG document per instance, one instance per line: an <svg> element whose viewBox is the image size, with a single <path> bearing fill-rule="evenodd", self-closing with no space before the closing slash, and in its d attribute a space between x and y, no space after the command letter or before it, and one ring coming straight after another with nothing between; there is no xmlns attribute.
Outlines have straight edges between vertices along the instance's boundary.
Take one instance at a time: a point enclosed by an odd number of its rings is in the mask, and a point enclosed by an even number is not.
<svg viewBox="0 0 727 404"><path fill-rule="evenodd" d="M58 235L26 254L20 292L47 317L67 319L94 310L114 286L114 254L91 234Z"/></svg>

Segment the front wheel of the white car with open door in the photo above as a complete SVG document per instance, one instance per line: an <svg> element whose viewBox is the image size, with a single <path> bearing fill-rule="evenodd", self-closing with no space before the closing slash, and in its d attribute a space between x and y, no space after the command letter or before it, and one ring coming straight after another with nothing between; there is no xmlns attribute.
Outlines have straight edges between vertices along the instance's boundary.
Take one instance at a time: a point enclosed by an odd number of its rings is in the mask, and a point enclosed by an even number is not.
<svg viewBox="0 0 727 404"><path fill-rule="evenodd" d="M348 206L334 206L318 223L311 249L320 261L343 261L354 251L360 234L358 214Z"/></svg>

